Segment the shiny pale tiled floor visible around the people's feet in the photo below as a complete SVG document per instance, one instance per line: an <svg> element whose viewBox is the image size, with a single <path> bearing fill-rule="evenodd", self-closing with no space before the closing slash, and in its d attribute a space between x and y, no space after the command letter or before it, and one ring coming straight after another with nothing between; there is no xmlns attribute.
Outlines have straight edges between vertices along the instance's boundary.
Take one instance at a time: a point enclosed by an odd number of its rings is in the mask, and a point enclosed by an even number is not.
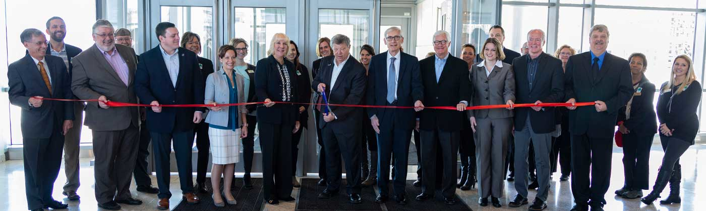
<svg viewBox="0 0 706 211"><path fill-rule="evenodd" d="M652 153L650 154L650 186L654 182L654 178L657 177L657 168L662 160L662 148L658 145L659 143L652 146ZM606 193L606 200L608 204L605 210L702 210L704 208L698 208L698 200L703 200L706 198L706 183L704 179L705 176L699 176L698 170L706 170L706 162L699 162L700 160L706 160L706 144L697 144L691 146L689 150L682 156L681 165L683 171L683 181L682 181L682 203L679 205L643 205L640 200L625 200L623 198L615 197L613 192L623 186L623 164L621 159L623 158L622 149L615 147L613 153L613 164L612 164L612 175L611 175L611 187L608 193ZM68 210L99 210L97 208L94 191L93 191L93 168L90 167L90 159L85 158L81 160L81 170L80 170L80 181L82 186L78 189L78 194L81 196L80 201L67 201L70 205ZM412 170L414 168L410 168ZM407 175L408 179L416 178L416 174L410 173ZM554 180L551 181L551 190L549 191L549 207L547 210L569 210L573 206L573 198L571 196L570 181L558 181L560 175L555 174ZM154 179L154 177L152 177ZM701 180L702 183L698 184L697 181ZM64 196L61 195L61 186L63 186L66 178L64 177L63 169L59 174L59 179L56 180L56 186L54 186L54 198L56 200L64 200ZM24 186L24 174L23 174L23 162L22 160L11 160L7 162L0 163L0 210L27 210L27 203L25 200L25 186ZM156 184L153 181L153 184ZM172 193L174 197L171 199L170 205L176 207L179 204L179 178L176 175L172 175ZM139 206L123 205L123 210L157 210L155 208L157 204L157 197L153 194L145 194L135 191L135 186L131 188L133 195L145 203ZM457 194L462 198L472 210L526 210L527 205L520 208L509 208L507 207L508 201L515 195L515 187L512 182L505 183L505 197L501 198L501 203L503 207L479 207L477 203L477 191L472 189L470 191L460 191L457 189ZM299 190L294 188L292 196L297 198L297 192ZM663 197L669 192L669 187L665 188ZM534 199L534 193L536 191L530 191L530 200ZM645 194L648 192L645 191ZM414 196L409 196L413 198ZM66 201L66 200L64 200ZM373 202L364 202L373 203ZM296 203L280 203L277 206L266 205L263 210L294 210Z"/></svg>

